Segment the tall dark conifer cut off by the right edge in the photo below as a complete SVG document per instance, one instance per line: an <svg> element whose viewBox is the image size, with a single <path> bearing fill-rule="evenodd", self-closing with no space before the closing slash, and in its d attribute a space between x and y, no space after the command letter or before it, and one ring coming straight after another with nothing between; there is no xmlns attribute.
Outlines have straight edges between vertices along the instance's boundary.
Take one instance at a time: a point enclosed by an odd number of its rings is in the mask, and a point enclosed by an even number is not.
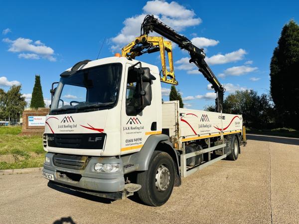
<svg viewBox="0 0 299 224"><path fill-rule="evenodd" d="M271 96L285 125L299 126L299 25L292 19L281 32L270 64Z"/></svg>

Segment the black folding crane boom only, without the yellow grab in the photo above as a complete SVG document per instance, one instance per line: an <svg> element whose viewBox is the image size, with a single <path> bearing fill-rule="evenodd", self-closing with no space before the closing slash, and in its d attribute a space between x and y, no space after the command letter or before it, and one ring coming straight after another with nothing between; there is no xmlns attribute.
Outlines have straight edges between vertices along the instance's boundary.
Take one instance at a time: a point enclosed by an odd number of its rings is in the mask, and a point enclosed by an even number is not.
<svg viewBox="0 0 299 224"><path fill-rule="evenodd" d="M178 34L174 29L159 21L157 18L154 18L152 15L147 15L141 26L141 35L149 34L149 32L152 31L160 34L163 37L166 37L167 39L176 43L181 49L187 50L189 52L191 57L189 62L193 62L198 67L199 72L201 72L212 84L212 87L217 93L216 110L217 112L220 112L222 110L223 94L225 89L220 84L208 64L205 62L205 53L203 52L203 49L194 46L187 37Z"/></svg>

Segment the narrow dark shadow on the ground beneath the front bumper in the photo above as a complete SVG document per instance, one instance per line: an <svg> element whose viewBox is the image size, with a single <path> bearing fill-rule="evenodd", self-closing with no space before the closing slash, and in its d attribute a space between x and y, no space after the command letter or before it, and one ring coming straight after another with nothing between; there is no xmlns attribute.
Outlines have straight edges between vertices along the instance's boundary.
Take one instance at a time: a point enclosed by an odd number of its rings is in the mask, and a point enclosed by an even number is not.
<svg viewBox="0 0 299 224"><path fill-rule="evenodd" d="M112 202L115 201L113 199L101 198L101 197L97 197L97 196L94 196L94 195L89 195L89 194L86 194L86 193L83 193L83 192L78 192L78 191L75 191L75 190L63 188L63 187L53 185L53 184L49 184L49 183L48 183L48 187L52 188L53 190L65 193L65 194L73 195L73 196L83 198L83 199L93 201L93 202L99 202L99 203L103 203L103 204L111 204Z"/></svg>

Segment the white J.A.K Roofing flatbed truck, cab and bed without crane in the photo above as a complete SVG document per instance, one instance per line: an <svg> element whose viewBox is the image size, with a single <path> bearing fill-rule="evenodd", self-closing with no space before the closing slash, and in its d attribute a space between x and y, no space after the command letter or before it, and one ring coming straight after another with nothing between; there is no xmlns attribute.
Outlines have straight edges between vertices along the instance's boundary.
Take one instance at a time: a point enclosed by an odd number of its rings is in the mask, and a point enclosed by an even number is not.
<svg viewBox="0 0 299 224"><path fill-rule="evenodd" d="M49 185L161 206L181 177L238 158L242 115L162 104L158 67L123 56L79 62L52 85L42 173Z"/></svg>

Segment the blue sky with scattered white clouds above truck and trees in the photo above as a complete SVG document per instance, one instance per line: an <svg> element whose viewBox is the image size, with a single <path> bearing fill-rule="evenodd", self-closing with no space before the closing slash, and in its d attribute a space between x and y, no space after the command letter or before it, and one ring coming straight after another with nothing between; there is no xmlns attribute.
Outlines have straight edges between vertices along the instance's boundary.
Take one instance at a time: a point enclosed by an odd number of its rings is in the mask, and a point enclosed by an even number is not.
<svg viewBox="0 0 299 224"><path fill-rule="evenodd" d="M3 1L0 88L7 91L21 84L21 93L30 102L34 77L39 74L48 106L51 84L59 81L59 74L79 61L121 52L140 35L147 14L204 48L225 96L246 89L269 94L272 53L282 27L292 18L299 22L299 1ZM213 105L211 85L189 64L188 53L173 45L177 89L185 107L202 110ZM136 59L161 68L158 53ZM170 85L162 83L164 101L169 91Z"/></svg>

